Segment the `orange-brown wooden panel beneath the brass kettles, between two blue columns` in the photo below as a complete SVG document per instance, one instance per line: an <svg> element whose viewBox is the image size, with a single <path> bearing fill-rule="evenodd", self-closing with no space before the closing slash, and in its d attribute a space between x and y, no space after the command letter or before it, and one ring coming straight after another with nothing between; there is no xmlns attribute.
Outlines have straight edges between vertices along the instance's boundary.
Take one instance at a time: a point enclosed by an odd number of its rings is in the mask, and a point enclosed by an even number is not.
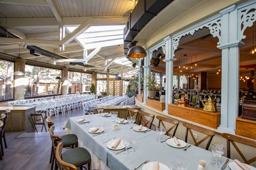
<svg viewBox="0 0 256 170"><path fill-rule="evenodd" d="M168 115L184 118L198 124L207 125L217 129L220 125L220 111L209 112L202 108L182 107L176 104L168 104Z"/></svg>

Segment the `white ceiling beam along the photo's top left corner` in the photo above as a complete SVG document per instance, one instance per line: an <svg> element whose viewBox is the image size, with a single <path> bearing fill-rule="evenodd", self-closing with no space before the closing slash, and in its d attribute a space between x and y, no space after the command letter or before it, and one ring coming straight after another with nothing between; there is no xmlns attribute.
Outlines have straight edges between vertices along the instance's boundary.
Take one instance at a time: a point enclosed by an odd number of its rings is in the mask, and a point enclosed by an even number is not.
<svg viewBox="0 0 256 170"><path fill-rule="evenodd" d="M18 5L33 5L33 6L48 6L45 0L0 0L0 4L18 4Z"/></svg>

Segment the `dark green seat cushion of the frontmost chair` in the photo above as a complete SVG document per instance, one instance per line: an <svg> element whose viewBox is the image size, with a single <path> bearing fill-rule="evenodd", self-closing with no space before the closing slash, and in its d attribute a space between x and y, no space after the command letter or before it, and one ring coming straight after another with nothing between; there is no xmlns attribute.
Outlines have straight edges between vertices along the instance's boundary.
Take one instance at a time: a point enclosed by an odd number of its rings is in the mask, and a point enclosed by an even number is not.
<svg viewBox="0 0 256 170"><path fill-rule="evenodd" d="M84 148L73 148L61 155L64 162L74 166L86 164L91 159L90 153Z"/></svg>

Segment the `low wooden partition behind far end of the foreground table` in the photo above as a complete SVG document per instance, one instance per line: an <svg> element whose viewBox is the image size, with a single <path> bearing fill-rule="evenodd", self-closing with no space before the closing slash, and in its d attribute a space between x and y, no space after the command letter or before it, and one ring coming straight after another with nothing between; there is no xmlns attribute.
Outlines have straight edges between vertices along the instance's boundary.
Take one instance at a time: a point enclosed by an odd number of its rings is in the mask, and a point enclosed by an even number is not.
<svg viewBox="0 0 256 170"><path fill-rule="evenodd" d="M96 106L95 113L97 113L97 108L104 108L103 113L109 113L109 111L118 111L118 117L120 117L120 118L126 118L127 110L125 110L125 108L132 108L135 110L140 110L140 107L136 106L136 105Z"/></svg>

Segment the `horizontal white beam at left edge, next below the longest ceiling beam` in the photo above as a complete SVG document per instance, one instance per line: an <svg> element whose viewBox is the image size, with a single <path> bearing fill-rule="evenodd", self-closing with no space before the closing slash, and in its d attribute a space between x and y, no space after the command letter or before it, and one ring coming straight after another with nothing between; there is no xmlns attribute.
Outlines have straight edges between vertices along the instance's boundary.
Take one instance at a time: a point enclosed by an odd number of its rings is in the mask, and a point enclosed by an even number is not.
<svg viewBox="0 0 256 170"><path fill-rule="evenodd" d="M0 43L12 43L12 44L25 43L26 45L60 46L59 41L38 40L38 39L3 38L3 37L0 37Z"/></svg>

